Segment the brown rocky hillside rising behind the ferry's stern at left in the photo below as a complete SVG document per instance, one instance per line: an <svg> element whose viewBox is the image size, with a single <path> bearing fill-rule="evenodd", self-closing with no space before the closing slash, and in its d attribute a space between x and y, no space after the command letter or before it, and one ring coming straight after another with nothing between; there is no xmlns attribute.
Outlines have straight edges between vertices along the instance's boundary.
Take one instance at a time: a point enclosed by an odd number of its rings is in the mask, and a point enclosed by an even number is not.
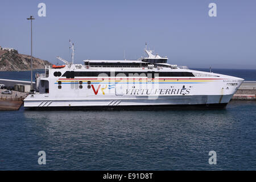
<svg viewBox="0 0 256 182"><path fill-rule="evenodd" d="M31 57L22 55L18 51L0 50L0 71L26 71L30 70ZM42 69L44 65L52 65L48 61L33 57L33 69Z"/></svg>

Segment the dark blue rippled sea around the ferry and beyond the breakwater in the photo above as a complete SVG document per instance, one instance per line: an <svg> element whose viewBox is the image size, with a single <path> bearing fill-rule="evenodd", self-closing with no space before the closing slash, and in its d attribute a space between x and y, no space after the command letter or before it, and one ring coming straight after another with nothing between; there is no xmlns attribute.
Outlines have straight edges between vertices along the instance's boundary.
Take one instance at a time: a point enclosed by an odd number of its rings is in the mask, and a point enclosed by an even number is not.
<svg viewBox="0 0 256 182"><path fill-rule="evenodd" d="M213 72L256 80L255 70ZM29 81L30 72L0 78ZM225 110L21 107L0 114L0 170L256 170L255 101L231 101ZM46 165L38 164L39 151ZM209 151L216 151L216 165L208 163Z"/></svg>

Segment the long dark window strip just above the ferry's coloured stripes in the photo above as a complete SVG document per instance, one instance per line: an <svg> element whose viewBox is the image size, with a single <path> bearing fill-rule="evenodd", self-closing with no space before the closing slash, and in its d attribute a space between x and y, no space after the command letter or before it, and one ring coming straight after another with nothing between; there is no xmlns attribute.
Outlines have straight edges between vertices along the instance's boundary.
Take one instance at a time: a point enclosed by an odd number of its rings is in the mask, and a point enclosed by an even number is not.
<svg viewBox="0 0 256 182"><path fill-rule="evenodd" d="M75 72L67 71L63 77L74 78L74 77L195 77L191 72Z"/></svg>

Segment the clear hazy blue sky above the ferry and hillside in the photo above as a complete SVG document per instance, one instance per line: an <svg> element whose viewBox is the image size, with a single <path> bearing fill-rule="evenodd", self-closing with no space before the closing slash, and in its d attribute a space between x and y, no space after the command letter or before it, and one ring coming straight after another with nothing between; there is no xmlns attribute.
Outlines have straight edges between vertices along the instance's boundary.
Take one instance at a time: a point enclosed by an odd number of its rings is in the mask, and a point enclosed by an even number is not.
<svg viewBox="0 0 256 182"><path fill-rule="evenodd" d="M46 17L38 4L46 3ZM217 5L209 17L208 5ZM57 63L85 59L138 59L145 42L168 63L192 68L256 69L256 1L1 1L0 46L30 54L34 15L35 57ZM61 62L59 61L61 64Z"/></svg>

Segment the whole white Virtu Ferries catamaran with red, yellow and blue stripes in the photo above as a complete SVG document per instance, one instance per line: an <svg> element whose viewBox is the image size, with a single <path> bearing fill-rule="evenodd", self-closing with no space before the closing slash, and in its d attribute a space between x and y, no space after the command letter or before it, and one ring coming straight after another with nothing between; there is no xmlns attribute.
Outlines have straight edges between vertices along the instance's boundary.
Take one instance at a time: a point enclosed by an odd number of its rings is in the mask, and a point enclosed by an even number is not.
<svg viewBox="0 0 256 182"><path fill-rule="evenodd" d="M72 44L73 46L73 44ZM167 57L144 49L139 60L84 60L57 57L64 65L36 73L35 92L26 109L225 108L242 78L168 64Z"/></svg>

